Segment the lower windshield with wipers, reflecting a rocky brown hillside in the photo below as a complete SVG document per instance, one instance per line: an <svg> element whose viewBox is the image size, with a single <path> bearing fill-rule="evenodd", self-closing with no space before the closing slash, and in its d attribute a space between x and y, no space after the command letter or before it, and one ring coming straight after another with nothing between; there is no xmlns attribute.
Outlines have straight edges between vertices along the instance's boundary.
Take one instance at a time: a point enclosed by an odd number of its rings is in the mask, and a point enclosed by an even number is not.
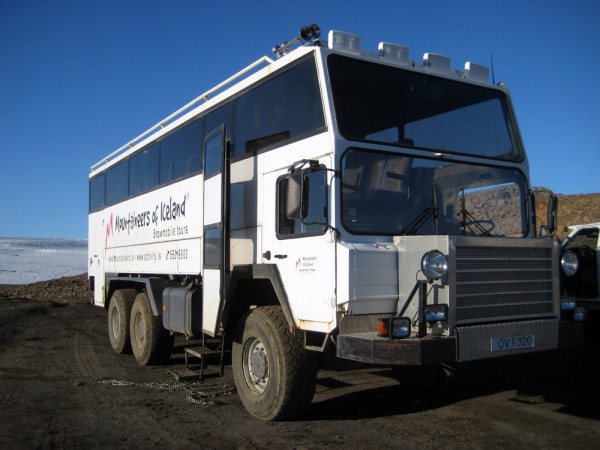
<svg viewBox="0 0 600 450"><path fill-rule="evenodd" d="M449 160L349 150L342 221L355 234L527 234L523 174Z"/></svg>

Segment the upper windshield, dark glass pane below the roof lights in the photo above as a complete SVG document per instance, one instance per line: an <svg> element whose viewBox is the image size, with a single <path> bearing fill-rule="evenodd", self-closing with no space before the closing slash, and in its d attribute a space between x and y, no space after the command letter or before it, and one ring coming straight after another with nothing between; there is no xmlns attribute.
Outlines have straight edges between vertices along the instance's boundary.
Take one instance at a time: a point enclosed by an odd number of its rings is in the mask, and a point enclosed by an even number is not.
<svg viewBox="0 0 600 450"><path fill-rule="evenodd" d="M340 55L328 68L347 139L522 160L501 91Z"/></svg>

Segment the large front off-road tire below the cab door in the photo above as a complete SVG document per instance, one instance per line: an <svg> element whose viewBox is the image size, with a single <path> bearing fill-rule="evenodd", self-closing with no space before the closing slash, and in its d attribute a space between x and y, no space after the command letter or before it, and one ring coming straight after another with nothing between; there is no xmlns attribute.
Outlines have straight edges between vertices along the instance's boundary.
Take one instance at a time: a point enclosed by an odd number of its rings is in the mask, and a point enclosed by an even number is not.
<svg viewBox="0 0 600 450"><path fill-rule="evenodd" d="M316 356L304 349L302 334L290 332L281 307L248 311L237 325L233 376L246 410L264 420L305 412L315 394Z"/></svg>

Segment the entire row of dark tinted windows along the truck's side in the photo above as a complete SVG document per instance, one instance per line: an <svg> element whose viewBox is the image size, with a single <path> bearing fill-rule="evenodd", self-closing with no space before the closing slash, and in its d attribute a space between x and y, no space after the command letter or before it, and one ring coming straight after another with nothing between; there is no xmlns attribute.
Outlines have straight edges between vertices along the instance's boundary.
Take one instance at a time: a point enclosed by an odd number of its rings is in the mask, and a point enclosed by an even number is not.
<svg viewBox="0 0 600 450"><path fill-rule="evenodd" d="M253 156L261 149L323 130L314 58L286 68L94 177L89 211L201 173L204 137L223 125L233 158Z"/></svg>

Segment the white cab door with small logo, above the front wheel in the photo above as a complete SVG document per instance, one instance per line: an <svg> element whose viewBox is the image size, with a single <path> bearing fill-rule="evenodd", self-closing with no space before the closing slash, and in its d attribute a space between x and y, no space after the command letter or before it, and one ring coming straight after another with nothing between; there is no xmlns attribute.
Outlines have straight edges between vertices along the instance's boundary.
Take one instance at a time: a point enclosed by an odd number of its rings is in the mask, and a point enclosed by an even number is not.
<svg viewBox="0 0 600 450"><path fill-rule="evenodd" d="M324 166L323 166L324 167ZM287 170L264 175L263 263L277 265L296 325L329 332L335 319L335 239L330 219L331 172L307 174L307 216L286 216Z"/></svg>

